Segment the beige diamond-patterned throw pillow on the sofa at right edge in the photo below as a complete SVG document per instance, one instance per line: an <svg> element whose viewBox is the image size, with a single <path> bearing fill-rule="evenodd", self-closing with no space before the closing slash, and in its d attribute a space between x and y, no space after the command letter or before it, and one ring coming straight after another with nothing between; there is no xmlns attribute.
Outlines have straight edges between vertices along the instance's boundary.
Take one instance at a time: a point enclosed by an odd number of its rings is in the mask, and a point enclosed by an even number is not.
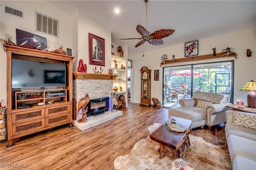
<svg viewBox="0 0 256 170"><path fill-rule="evenodd" d="M233 111L232 124L256 130L256 116L242 114L242 113Z"/></svg>

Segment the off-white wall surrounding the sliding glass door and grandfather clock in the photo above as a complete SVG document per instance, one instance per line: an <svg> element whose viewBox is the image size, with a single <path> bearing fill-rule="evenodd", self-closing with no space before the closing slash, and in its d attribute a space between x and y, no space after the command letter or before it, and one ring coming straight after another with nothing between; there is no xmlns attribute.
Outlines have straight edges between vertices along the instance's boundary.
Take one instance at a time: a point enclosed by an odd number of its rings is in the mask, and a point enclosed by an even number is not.
<svg viewBox="0 0 256 170"><path fill-rule="evenodd" d="M246 101L246 94L248 91L241 91L238 90L238 88L252 79L256 81L256 29L248 29L206 39L199 39L198 53L199 55L212 54L212 48L214 47L216 47L217 53L220 53L221 50L226 49L226 47L234 47L234 51L238 54L238 58L227 57L223 59L168 64L166 66L234 60L234 101L237 99ZM141 46L139 48L143 47ZM152 49L153 48L154 47L152 47ZM252 51L251 57L246 56L246 49ZM175 55L175 59L183 58L184 43L144 53L144 57L142 57L143 54L129 56L133 65L132 98L134 103L140 103L140 69L142 66L147 66L148 69L152 70L151 97L158 98L162 101L163 70L160 63L162 61L161 57L164 54L168 56L168 59L172 59L172 55ZM154 81L154 70L159 70L160 72L159 81Z"/></svg>

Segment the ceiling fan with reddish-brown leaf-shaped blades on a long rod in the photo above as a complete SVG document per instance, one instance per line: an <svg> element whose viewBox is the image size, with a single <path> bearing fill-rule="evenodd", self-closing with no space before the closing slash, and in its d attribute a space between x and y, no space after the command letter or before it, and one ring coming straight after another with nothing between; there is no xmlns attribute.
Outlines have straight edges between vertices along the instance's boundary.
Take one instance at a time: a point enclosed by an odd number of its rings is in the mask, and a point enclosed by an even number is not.
<svg viewBox="0 0 256 170"><path fill-rule="evenodd" d="M162 40L165 37L168 37L169 35L172 35L174 33L174 29L159 29L157 31L154 31L150 34L149 31L147 31L147 2L148 0L144 0L146 2L146 28L144 28L141 25L137 25L136 30L140 35L142 35L141 38L126 38L126 39L142 39L138 44L135 45L135 47L139 47L140 45L144 44L146 41L150 43L151 45L163 45L164 41ZM123 40L123 39L120 39Z"/></svg>

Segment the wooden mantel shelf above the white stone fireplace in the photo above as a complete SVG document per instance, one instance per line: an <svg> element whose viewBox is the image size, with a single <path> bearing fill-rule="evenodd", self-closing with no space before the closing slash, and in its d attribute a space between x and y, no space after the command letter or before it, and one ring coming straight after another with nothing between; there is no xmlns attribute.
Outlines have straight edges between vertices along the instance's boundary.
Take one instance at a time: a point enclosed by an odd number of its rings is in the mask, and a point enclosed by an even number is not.
<svg viewBox="0 0 256 170"><path fill-rule="evenodd" d="M73 79L94 79L94 80L115 80L118 75L113 74L96 74L96 73L84 73L84 72L73 72Z"/></svg>

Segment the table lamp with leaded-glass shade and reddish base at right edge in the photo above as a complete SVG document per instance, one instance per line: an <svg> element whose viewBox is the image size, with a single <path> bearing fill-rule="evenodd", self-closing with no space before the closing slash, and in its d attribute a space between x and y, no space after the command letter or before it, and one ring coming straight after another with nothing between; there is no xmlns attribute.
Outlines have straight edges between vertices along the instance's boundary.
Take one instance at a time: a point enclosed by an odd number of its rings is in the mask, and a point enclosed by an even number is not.
<svg viewBox="0 0 256 170"><path fill-rule="evenodd" d="M250 91L247 94L247 104L248 107L256 108L256 93L253 91L256 91L256 82L255 81L249 81L244 86L238 88L238 90L247 90Z"/></svg>

